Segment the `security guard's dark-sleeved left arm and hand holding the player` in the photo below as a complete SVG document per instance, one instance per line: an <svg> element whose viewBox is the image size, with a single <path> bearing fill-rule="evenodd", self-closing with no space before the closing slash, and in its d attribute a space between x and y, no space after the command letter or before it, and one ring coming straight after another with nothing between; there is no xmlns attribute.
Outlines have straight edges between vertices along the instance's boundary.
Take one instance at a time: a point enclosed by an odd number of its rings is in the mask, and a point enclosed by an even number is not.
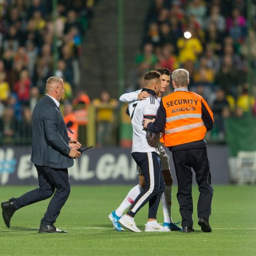
<svg viewBox="0 0 256 256"><path fill-rule="evenodd" d="M164 130L166 120L166 111L163 107L162 100L157 110L156 120L153 122L150 119L143 119L143 128L152 133L161 133Z"/></svg>

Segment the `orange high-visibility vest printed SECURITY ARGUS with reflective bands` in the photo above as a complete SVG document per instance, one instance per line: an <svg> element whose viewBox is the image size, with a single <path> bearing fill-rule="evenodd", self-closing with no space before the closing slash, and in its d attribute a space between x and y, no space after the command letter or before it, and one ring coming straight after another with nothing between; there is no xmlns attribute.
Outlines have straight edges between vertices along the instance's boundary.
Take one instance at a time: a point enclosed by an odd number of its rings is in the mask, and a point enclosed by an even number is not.
<svg viewBox="0 0 256 256"><path fill-rule="evenodd" d="M166 121L160 142L165 146L176 146L202 140L206 127L202 120L202 103L212 120L213 114L200 95L188 91L176 91L162 98Z"/></svg>

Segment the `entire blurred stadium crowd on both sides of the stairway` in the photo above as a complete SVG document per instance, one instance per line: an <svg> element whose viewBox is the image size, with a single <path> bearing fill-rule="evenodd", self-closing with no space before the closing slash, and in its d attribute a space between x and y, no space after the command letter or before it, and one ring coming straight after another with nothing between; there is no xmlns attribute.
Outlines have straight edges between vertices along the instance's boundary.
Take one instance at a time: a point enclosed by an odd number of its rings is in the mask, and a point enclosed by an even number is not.
<svg viewBox="0 0 256 256"><path fill-rule="evenodd" d="M64 100L73 108L78 103L91 104L90 95L81 98L79 58L94 4L93 0L58 0L55 38L52 1L0 1L0 143L30 143L32 110L52 75L65 79ZM256 115L255 85L249 95L247 79L248 59L256 68L256 19L249 28L246 8L243 0L152 0L141 53L136 56L134 89L149 70L188 70L189 89L201 94L214 112L211 137L223 139L224 117L243 117L250 110ZM251 10L255 17L255 2ZM187 38L184 32L189 32ZM96 106L99 102L92 101ZM67 115L72 112L70 106L65 109ZM103 122L113 123L114 112L108 113L109 120ZM101 137L98 131L98 140Z"/></svg>

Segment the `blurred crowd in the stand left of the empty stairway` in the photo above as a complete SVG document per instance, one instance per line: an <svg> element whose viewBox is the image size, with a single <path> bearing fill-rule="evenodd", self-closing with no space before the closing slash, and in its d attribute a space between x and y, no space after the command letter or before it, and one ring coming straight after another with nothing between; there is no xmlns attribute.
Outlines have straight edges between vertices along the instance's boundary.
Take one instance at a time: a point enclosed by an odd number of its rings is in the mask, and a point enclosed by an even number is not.
<svg viewBox="0 0 256 256"><path fill-rule="evenodd" d="M81 44L94 2L58 0L56 11L53 1L0 2L1 143L31 143L32 111L50 76L65 79L64 100L72 102L80 82Z"/></svg>

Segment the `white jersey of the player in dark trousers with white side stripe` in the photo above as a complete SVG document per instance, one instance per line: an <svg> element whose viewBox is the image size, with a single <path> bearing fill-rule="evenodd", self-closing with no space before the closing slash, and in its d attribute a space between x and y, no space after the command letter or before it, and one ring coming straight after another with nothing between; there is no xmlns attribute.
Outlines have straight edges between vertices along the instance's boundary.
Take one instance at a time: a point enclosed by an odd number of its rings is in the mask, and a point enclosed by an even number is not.
<svg viewBox="0 0 256 256"><path fill-rule="evenodd" d="M143 130L142 121L146 116L156 116L159 108L158 100L152 95L146 100L135 100L129 103L129 114L133 125L133 147L132 152L156 152L159 154L159 143L155 143L154 146L148 144L152 141L152 138L156 134L150 135ZM147 136L146 136L147 135ZM159 139L159 138L158 138ZM153 141L158 141L153 139Z"/></svg>

